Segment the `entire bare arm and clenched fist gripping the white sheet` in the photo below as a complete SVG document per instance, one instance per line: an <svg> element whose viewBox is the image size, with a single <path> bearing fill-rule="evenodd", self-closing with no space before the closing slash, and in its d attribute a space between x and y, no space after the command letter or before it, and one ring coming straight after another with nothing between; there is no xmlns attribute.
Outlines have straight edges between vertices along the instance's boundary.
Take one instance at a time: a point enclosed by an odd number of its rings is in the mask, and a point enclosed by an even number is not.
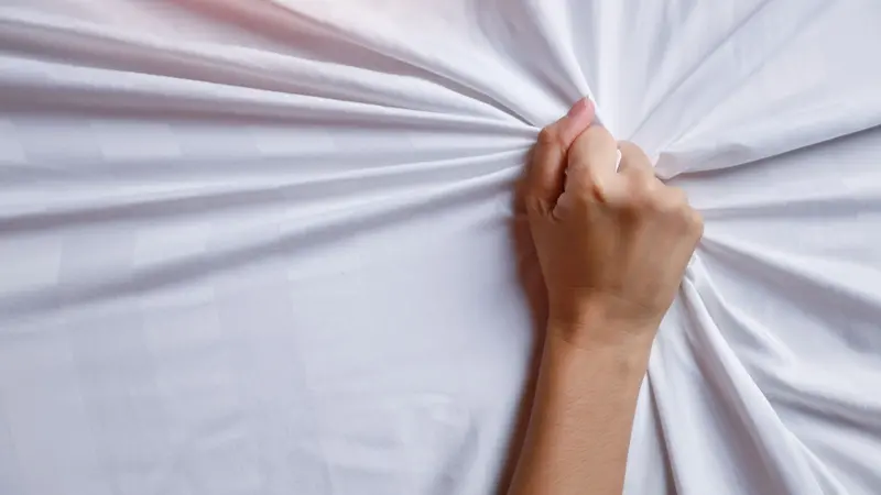
<svg viewBox="0 0 881 495"><path fill-rule="evenodd" d="M652 342L704 231L685 194L594 118L581 100L542 130L525 179L550 316L509 495L622 493Z"/></svg>

